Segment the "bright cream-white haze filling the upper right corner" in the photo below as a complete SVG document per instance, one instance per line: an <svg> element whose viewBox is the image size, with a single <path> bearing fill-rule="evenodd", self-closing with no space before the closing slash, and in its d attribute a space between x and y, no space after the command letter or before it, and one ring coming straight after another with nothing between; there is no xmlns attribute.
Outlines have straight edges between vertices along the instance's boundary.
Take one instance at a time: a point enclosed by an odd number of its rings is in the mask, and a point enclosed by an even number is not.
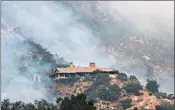
<svg viewBox="0 0 175 110"><path fill-rule="evenodd" d="M142 36L174 41L174 1L104 1L97 6L115 19L126 19Z"/></svg>

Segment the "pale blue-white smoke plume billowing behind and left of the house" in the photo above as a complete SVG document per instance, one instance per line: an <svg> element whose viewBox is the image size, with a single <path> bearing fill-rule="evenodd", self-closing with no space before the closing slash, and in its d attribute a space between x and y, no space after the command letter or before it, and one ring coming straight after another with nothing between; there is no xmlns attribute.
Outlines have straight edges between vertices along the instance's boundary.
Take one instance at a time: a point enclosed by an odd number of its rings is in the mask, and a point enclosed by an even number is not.
<svg viewBox="0 0 175 110"><path fill-rule="evenodd" d="M4 27L20 27L21 33L25 35L2 34L2 92L7 94L7 98L22 101L45 98L44 93L33 88L32 79L19 74L17 67L21 62L18 58L20 54L30 51L30 46L18 45L20 38L30 38L51 53L57 53L74 64L88 65L94 61L98 66L111 66L114 61L104 53L96 52L98 40L91 29L76 21L77 18L60 3L2 2L1 19ZM1 30L7 33L5 28ZM28 61L25 63L27 65ZM27 65L29 76L34 77L38 71L43 72L50 66L35 63L37 62L32 62L32 66Z"/></svg>

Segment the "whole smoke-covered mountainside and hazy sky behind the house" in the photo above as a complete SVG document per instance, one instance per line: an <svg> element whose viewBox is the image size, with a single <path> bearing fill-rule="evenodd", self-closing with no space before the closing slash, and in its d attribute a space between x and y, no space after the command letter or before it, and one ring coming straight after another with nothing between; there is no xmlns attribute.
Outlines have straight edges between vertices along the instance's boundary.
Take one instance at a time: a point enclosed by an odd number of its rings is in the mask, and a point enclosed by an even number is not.
<svg viewBox="0 0 175 110"><path fill-rule="evenodd" d="M70 62L112 67L137 76L143 85L147 78L153 78L161 91L174 93L173 2L131 4L134 6L117 1L3 1L4 98L52 100L54 88L46 94L33 86L35 79L42 82L40 88L51 87L53 82L47 73ZM150 11L153 7L155 11ZM20 27L19 32L14 32L16 27Z"/></svg>

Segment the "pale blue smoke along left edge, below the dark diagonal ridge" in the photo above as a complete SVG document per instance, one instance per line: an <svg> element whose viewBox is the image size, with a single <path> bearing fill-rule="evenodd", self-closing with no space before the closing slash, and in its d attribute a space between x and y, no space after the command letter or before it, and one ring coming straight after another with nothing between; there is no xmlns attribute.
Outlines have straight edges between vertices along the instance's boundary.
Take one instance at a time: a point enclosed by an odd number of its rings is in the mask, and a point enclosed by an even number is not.
<svg viewBox="0 0 175 110"><path fill-rule="evenodd" d="M34 76L49 69L51 65L39 65L32 60L28 52L29 46L21 43L17 37L19 35L2 36L2 93L11 100L33 101L36 98L46 98L43 91L34 89ZM21 71L22 66L27 67L25 72Z"/></svg>

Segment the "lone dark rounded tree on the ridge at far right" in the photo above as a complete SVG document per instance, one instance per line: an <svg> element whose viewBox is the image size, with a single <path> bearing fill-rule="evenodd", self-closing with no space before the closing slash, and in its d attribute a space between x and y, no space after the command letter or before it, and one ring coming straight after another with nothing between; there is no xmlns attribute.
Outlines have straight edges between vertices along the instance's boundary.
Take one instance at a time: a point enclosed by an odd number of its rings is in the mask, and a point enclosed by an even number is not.
<svg viewBox="0 0 175 110"><path fill-rule="evenodd" d="M158 88L159 88L159 85L155 80L149 80L149 79L147 80L146 89L148 91L151 91L152 93L156 93L156 92L159 92Z"/></svg>

